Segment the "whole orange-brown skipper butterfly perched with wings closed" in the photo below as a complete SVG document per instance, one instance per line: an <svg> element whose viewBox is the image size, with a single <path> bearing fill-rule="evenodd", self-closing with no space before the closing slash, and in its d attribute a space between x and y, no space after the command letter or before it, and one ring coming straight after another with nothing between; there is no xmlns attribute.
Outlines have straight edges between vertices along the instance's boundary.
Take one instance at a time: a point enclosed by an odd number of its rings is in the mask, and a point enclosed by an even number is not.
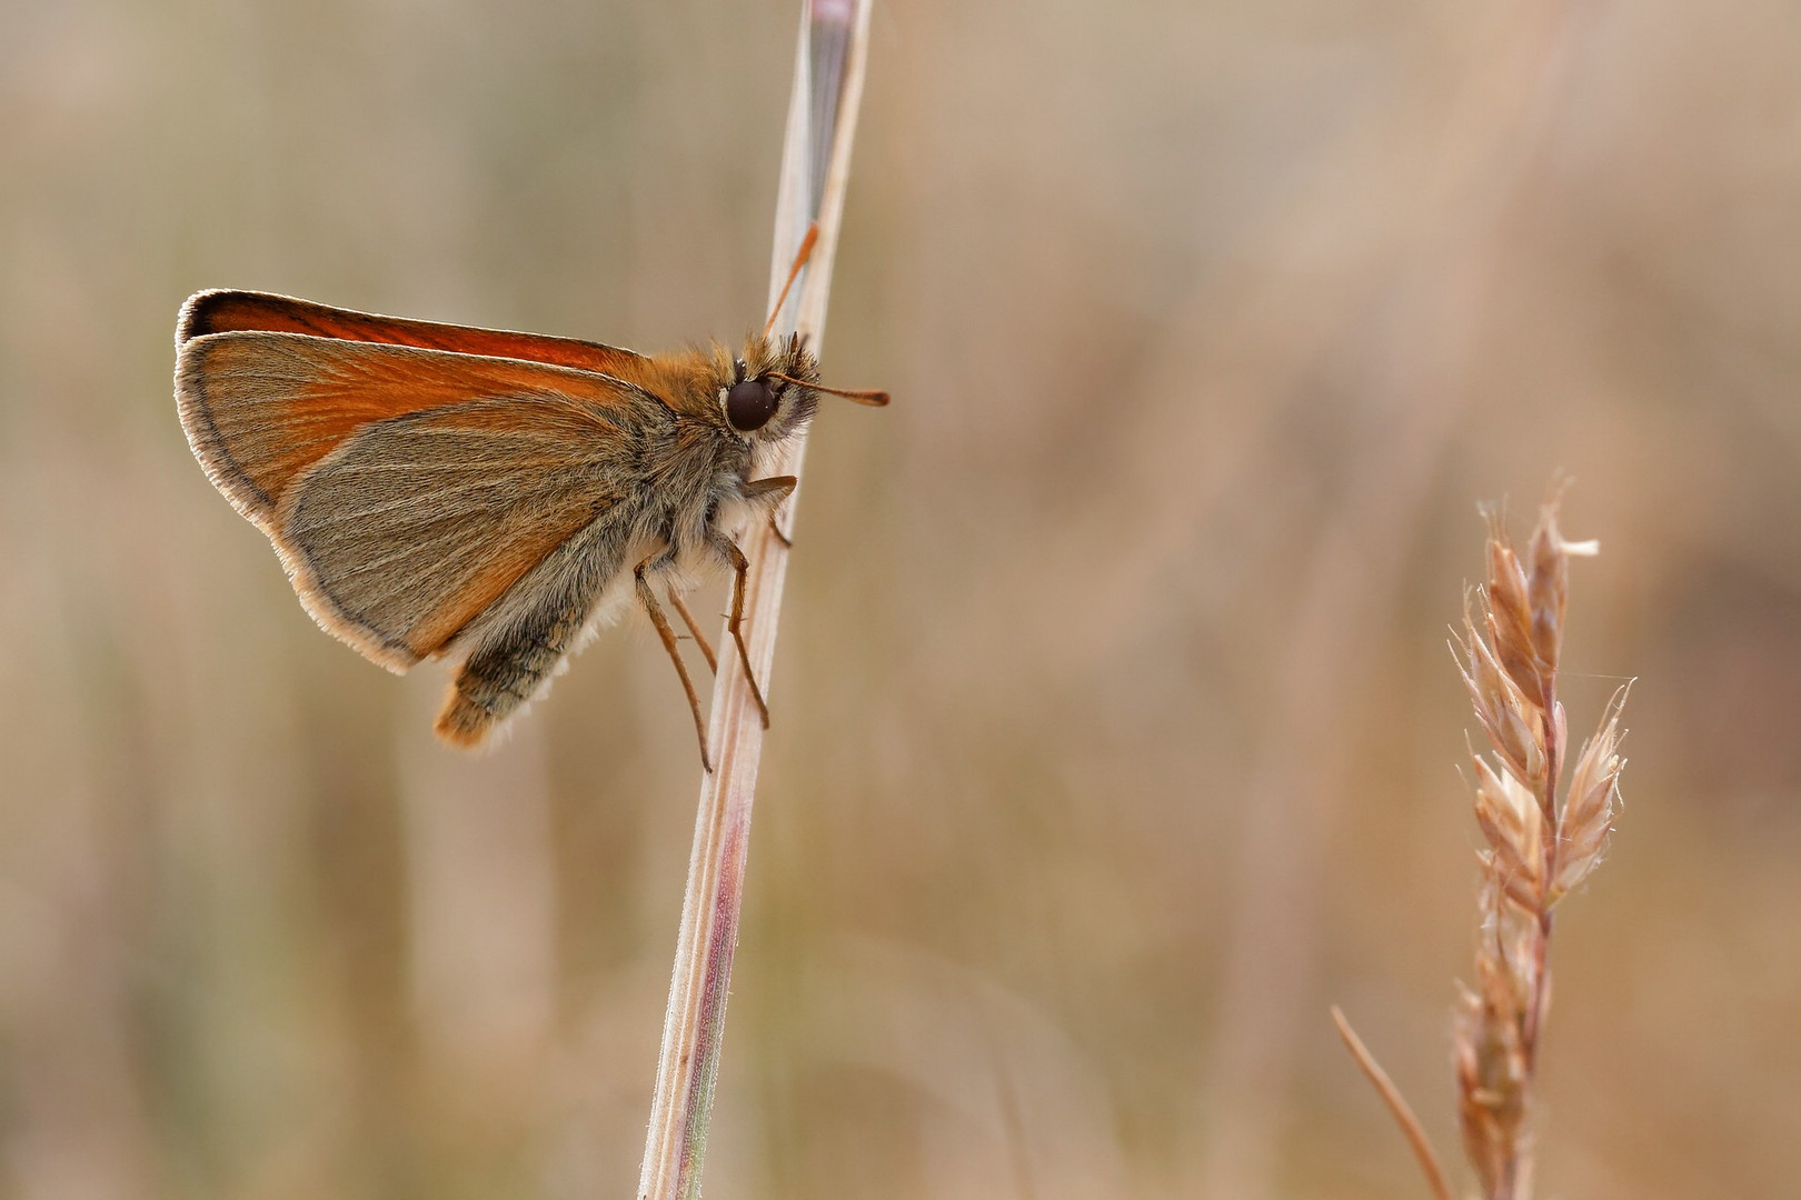
<svg viewBox="0 0 1801 1200"><path fill-rule="evenodd" d="M798 270L798 266L796 266ZM207 479L281 556L306 612L367 658L457 660L436 730L483 743L634 594L699 700L659 590L681 601L747 561L792 477L758 479L819 387L798 336L742 351L627 349L375 317L258 291L202 291L176 322L175 394ZM778 529L780 533L780 529ZM630 588L630 592L627 592ZM746 664L749 660L746 658ZM755 676L753 694L767 721Z"/></svg>

